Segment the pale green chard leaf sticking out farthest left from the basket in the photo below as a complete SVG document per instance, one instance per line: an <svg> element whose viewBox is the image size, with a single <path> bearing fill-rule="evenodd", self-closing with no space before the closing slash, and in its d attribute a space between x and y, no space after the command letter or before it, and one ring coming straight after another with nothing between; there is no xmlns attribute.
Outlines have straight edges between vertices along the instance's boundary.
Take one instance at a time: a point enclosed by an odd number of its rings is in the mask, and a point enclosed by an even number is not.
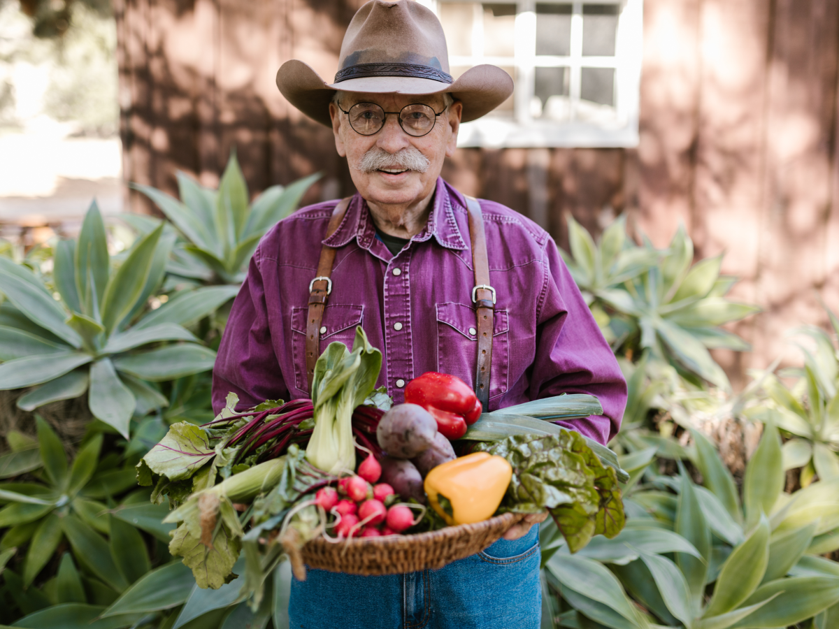
<svg viewBox="0 0 839 629"><path fill-rule="evenodd" d="M141 484L151 483L146 471L148 467L148 470L165 476L169 481L184 481L214 455L216 451L211 447L210 438L203 429L188 422L172 424L160 443L138 463L138 480Z"/></svg>

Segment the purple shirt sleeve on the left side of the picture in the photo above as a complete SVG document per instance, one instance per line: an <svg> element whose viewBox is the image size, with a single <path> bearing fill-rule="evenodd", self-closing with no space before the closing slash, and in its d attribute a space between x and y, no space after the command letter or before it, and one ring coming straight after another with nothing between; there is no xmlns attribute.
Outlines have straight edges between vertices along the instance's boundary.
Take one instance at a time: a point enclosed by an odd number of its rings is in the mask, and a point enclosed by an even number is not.
<svg viewBox="0 0 839 629"><path fill-rule="evenodd" d="M242 284L221 336L212 377L212 407L224 408L228 392L239 396L237 408L251 408L266 399L289 398L268 328L268 309L260 271L259 250L254 252L248 278Z"/></svg>

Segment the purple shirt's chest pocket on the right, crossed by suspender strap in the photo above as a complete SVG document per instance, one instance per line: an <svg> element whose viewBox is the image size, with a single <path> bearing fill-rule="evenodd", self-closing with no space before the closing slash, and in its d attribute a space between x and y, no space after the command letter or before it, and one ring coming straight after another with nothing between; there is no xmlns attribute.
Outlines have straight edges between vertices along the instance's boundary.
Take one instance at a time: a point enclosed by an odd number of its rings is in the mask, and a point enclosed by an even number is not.
<svg viewBox="0 0 839 629"><path fill-rule="evenodd" d="M489 399L507 392L508 387L508 314L498 309L492 317L492 366ZM437 371L451 373L470 387L475 387L477 366L477 314L466 304L437 304Z"/></svg>

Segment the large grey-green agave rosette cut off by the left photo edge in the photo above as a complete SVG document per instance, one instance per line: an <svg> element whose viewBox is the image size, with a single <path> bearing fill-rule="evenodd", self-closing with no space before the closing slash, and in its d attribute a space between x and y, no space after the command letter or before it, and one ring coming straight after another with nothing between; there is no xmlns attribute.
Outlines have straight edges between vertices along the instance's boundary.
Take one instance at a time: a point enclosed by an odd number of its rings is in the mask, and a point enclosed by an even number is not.
<svg viewBox="0 0 839 629"><path fill-rule="evenodd" d="M168 403L146 381L210 370L215 353L183 325L216 309L233 289L199 289L149 311L174 242L174 232L161 224L113 268L94 202L78 241L55 247L51 287L28 267L0 257L6 298L0 304L0 389L40 385L18 398L24 410L87 392L91 413L127 437L138 405Z"/></svg>

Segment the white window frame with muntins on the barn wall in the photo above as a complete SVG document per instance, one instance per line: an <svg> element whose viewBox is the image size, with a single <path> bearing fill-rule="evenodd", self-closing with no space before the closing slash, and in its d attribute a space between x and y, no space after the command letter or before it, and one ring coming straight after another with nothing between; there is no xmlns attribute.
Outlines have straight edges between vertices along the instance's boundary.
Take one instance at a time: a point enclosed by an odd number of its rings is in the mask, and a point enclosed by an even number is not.
<svg viewBox="0 0 839 629"><path fill-rule="evenodd" d="M437 0L417 0L438 13ZM474 0L446 0L474 2ZM495 0L504 2L504 0ZM618 4L618 30L615 56L582 55L582 7L584 2L539 0L539 3L571 4L571 54L536 55L536 0L518 0L515 18L514 57L483 55L482 16L472 24L472 55L450 55L451 67L477 65L513 66L516 70L513 92L513 119L482 117L465 122L458 133L457 146L463 148L633 148L638 146L638 97L641 82L644 0L594 0L597 4ZM477 13L477 12L476 12ZM481 17L481 19L477 19ZM614 68L616 121L601 125L571 120L559 122L533 118L530 100L534 95L537 67L568 67L571 70L569 101L571 111L580 100L581 69Z"/></svg>

